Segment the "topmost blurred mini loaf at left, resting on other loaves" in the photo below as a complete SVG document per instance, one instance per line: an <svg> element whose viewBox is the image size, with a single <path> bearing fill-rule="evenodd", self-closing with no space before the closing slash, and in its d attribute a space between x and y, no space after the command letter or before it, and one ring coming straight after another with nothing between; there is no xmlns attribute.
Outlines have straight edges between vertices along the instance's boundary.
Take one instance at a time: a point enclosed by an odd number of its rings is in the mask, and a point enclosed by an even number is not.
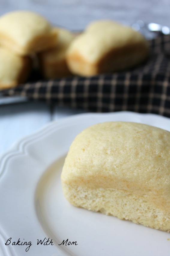
<svg viewBox="0 0 170 256"><path fill-rule="evenodd" d="M19 55L29 55L56 44L49 22L31 11L13 11L0 17L0 45Z"/></svg>

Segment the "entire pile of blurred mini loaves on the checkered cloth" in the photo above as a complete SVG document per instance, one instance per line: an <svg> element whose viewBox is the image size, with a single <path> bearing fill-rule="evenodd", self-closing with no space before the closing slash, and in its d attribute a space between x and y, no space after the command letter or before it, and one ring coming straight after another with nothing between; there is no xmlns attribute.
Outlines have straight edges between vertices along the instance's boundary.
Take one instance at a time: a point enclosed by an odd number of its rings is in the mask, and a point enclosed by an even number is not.
<svg viewBox="0 0 170 256"><path fill-rule="evenodd" d="M35 59L43 76L55 79L124 70L147 56L143 36L113 21L93 22L75 36L53 28L34 12L14 11L0 17L0 89L24 83Z"/></svg>

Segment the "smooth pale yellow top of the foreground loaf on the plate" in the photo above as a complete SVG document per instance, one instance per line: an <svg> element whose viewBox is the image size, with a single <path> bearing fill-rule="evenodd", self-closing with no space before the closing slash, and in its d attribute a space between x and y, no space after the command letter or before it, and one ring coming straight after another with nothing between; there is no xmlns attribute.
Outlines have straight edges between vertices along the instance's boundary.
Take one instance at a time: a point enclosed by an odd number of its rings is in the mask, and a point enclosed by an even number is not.
<svg viewBox="0 0 170 256"><path fill-rule="evenodd" d="M131 122L91 126L70 146L61 180L126 190L170 211L170 132Z"/></svg>

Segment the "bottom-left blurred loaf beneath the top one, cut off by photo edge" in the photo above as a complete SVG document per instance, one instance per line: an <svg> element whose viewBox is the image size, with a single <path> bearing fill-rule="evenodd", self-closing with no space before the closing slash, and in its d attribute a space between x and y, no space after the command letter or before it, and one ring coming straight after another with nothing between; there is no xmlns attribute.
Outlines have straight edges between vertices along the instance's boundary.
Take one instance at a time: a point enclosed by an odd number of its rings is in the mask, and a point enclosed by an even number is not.
<svg viewBox="0 0 170 256"><path fill-rule="evenodd" d="M31 71L31 59L0 47L0 89L24 83Z"/></svg>

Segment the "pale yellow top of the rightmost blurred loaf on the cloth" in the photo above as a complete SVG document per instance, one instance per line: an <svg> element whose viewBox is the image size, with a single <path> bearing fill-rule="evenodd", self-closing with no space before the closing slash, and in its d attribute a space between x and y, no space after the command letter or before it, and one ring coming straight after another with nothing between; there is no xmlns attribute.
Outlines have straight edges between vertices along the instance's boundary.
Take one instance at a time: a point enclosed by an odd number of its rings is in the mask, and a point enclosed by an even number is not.
<svg viewBox="0 0 170 256"><path fill-rule="evenodd" d="M71 43L67 55L78 54L89 63L97 63L112 49L143 43L144 37L131 27L119 23L100 20L91 23L84 33Z"/></svg>

